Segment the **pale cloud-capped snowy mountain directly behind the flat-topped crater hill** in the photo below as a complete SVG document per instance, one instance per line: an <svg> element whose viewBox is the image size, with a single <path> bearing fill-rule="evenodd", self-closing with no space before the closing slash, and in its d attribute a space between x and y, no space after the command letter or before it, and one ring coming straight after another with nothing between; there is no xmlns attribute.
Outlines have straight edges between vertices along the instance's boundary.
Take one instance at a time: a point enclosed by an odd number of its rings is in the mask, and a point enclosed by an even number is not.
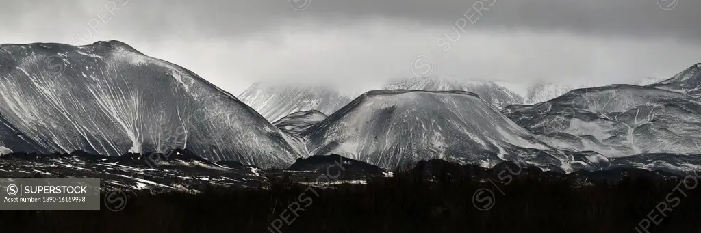
<svg viewBox="0 0 701 233"><path fill-rule="evenodd" d="M511 104L523 103L523 97L501 85L490 81L461 81L444 78L408 78L390 83L383 90L462 90L477 94L489 104L503 108Z"/></svg>

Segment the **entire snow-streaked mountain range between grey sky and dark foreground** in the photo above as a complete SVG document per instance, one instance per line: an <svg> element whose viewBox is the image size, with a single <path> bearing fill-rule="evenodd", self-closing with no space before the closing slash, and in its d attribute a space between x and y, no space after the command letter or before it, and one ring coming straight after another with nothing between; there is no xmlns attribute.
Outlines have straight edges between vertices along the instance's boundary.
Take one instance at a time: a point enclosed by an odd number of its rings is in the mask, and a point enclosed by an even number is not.
<svg viewBox="0 0 701 233"><path fill-rule="evenodd" d="M433 77L359 96L257 83L236 98L119 41L5 44L0 153L186 148L207 161L259 167L333 153L383 168L440 158L565 172L612 164L688 170L689 156L700 153L700 69L646 86L536 83L523 95L491 81Z"/></svg>

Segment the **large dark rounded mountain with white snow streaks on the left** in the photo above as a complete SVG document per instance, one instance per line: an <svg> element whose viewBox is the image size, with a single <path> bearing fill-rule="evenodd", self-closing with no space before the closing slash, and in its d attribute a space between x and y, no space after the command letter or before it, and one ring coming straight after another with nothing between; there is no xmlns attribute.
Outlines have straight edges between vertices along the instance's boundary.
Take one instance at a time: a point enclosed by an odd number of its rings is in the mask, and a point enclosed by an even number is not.
<svg viewBox="0 0 701 233"><path fill-rule="evenodd" d="M15 151L180 147L262 167L306 155L299 139L233 95L119 41L0 45L0 115L0 146ZM27 149L36 143L43 148Z"/></svg>

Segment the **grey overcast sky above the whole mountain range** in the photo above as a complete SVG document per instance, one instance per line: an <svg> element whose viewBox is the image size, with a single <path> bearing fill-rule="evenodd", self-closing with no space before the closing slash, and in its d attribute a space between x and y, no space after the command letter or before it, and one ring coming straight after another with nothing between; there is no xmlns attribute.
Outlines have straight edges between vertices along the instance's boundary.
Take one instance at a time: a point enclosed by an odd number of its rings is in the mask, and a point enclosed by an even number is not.
<svg viewBox="0 0 701 233"><path fill-rule="evenodd" d="M635 83L701 62L698 0L0 1L0 43L123 41L232 94L429 74Z"/></svg>

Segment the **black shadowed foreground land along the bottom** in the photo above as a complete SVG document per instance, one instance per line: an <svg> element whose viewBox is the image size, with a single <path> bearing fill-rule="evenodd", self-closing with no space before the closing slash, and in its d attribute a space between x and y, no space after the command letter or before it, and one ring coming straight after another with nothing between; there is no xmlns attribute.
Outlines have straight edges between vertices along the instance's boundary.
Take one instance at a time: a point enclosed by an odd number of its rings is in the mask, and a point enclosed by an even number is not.
<svg viewBox="0 0 701 233"><path fill-rule="evenodd" d="M129 193L121 211L1 211L0 225L3 232L90 233L701 232L700 173L685 183L637 169L518 174L509 166L432 161L365 185L320 188L280 179L198 195Z"/></svg>

